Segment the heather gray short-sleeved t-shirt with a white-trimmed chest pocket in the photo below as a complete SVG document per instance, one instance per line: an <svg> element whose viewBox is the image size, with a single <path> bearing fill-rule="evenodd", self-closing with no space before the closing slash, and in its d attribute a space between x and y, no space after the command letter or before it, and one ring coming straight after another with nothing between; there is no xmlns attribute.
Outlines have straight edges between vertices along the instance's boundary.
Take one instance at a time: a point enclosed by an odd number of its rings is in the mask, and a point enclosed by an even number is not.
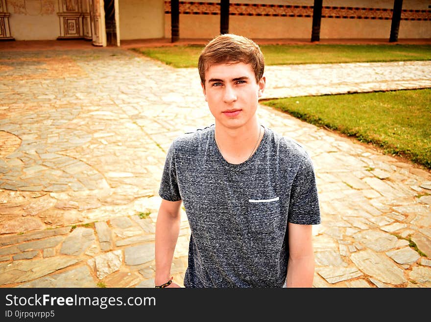
<svg viewBox="0 0 431 322"><path fill-rule="evenodd" d="M191 228L185 287L282 287L287 223L318 224L311 158L304 148L265 128L250 159L228 163L215 125L171 144L159 195L182 200Z"/></svg>

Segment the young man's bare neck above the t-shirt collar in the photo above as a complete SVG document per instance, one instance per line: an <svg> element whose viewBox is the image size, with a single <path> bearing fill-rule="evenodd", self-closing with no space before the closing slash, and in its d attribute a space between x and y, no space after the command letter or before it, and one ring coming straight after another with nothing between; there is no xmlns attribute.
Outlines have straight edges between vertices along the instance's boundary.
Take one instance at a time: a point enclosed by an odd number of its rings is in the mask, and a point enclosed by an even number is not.
<svg viewBox="0 0 431 322"><path fill-rule="evenodd" d="M264 129L257 118L251 121L240 128L227 128L216 123L216 144L227 162L242 163L259 147Z"/></svg>

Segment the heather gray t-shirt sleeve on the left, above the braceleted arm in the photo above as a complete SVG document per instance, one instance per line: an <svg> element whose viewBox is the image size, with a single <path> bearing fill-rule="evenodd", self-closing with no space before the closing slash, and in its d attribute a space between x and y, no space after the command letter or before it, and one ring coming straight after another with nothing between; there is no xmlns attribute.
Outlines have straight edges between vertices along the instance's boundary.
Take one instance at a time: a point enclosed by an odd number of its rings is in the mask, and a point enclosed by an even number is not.
<svg viewBox="0 0 431 322"><path fill-rule="evenodd" d="M159 188L159 196L169 201L181 200L175 168L175 141L172 142L168 149Z"/></svg>

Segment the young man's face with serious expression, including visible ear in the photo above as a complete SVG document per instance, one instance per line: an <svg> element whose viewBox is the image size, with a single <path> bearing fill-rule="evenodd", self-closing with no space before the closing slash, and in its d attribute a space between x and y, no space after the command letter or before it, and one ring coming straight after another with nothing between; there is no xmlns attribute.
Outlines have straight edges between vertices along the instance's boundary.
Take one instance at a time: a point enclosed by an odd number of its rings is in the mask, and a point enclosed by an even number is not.
<svg viewBox="0 0 431 322"><path fill-rule="evenodd" d="M250 64L224 63L210 66L202 89L216 124L239 128L253 121L265 77L256 83Z"/></svg>

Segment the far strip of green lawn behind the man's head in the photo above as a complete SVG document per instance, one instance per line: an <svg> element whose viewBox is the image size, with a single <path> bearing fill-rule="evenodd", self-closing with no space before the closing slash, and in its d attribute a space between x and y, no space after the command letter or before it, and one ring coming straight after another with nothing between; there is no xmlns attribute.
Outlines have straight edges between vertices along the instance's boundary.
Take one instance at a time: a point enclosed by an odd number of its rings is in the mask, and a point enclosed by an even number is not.
<svg viewBox="0 0 431 322"><path fill-rule="evenodd" d="M135 48L173 67L197 67L203 45ZM266 65L431 60L431 45L260 45Z"/></svg>

